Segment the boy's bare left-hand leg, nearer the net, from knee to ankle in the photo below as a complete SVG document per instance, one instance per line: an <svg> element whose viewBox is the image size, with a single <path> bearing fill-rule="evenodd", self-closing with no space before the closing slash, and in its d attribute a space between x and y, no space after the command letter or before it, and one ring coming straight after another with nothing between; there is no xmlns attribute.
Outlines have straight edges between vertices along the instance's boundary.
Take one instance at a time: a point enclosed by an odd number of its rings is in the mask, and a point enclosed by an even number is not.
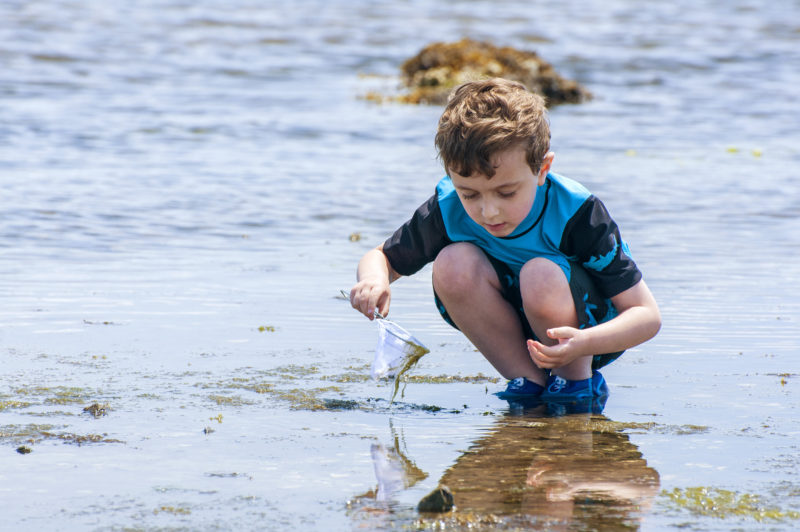
<svg viewBox="0 0 800 532"><path fill-rule="evenodd" d="M503 377L545 384L544 372L528 354L519 317L479 248L459 242L443 249L433 263L433 287L453 322Z"/></svg>

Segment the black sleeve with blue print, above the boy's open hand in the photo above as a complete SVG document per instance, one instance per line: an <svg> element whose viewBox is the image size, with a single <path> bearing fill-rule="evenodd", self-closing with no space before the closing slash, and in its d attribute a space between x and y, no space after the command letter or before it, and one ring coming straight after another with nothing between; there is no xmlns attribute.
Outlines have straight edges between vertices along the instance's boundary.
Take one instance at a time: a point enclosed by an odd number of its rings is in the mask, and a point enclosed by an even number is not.
<svg viewBox="0 0 800 532"><path fill-rule="evenodd" d="M624 292L642 278L619 227L595 196L590 196L567 222L560 249L586 268L605 297Z"/></svg>

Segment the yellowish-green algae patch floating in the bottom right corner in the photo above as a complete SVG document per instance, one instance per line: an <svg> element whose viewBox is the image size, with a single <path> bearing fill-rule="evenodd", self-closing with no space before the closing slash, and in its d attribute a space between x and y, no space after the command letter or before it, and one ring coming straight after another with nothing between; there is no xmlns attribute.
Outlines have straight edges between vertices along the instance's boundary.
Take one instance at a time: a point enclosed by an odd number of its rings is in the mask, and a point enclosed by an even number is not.
<svg viewBox="0 0 800 532"><path fill-rule="evenodd" d="M674 488L662 491L669 506L718 519L749 518L758 522L800 520L800 512L783 510L761 501L758 495L710 488Z"/></svg>

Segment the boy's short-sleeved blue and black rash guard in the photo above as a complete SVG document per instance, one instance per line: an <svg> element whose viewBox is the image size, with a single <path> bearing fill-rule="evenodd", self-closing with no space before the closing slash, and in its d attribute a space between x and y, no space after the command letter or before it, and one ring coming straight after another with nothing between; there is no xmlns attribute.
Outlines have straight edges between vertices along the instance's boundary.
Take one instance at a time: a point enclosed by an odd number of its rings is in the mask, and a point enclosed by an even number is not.
<svg viewBox="0 0 800 532"><path fill-rule="evenodd" d="M467 215L446 176L436 193L386 240L383 252L397 273L411 275L453 242L471 242L517 274L530 259L544 257L569 279L570 262L579 263L609 298L642 278L603 203L581 184L554 173L537 188L525 220L504 237L493 236Z"/></svg>

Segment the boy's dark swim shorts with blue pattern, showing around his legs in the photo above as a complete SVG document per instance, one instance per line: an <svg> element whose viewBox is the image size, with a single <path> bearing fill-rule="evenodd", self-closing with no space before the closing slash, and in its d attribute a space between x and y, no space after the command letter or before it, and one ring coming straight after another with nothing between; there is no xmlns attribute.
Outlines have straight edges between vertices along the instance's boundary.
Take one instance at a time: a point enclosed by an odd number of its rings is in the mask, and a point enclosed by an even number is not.
<svg viewBox="0 0 800 532"><path fill-rule="evenodd" d="M484 252L485 253L485 252ZM516 312L522 330L526 338L538 340L533 332L533 328L525 316L525 309L522 305L522 293L520 291L519 275L517 275L511 267L485 253L486 258L492 265L492 268L497 274L497 279L500 285L500 292L503 298L508 301L511 307ZM594 327L599 323L604 323L617 315L617 311L611 300L603 297L598 290L592 278L586 270L578 263L570 263L570 280L569 280L570 293L572 294L572 301L575 305L575 311L578 315L578 326L581 329ZM433 291L433 297L436 302L436 308L439 310L442 318L452 327L458 329L447 309L442 303L436 290ZM616 353L606 353L602 355L595 355L592 358L592 369L599 369L607 364L610 364L620 355L623 351Z"/></svg>

